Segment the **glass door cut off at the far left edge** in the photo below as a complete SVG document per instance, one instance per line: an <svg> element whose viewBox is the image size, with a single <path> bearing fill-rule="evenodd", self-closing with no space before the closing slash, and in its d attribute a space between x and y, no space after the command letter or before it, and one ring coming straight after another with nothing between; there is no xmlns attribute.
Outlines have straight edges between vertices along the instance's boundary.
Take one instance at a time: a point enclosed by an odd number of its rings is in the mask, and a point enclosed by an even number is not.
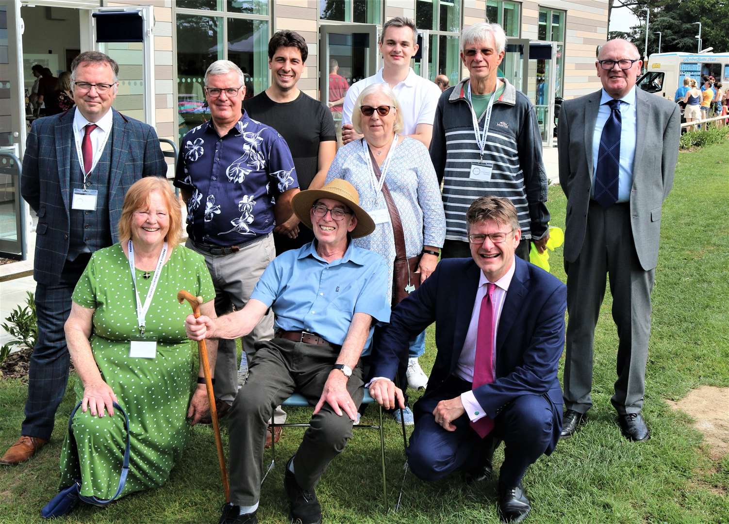
<svg viewBox="0 0 729 524"><path fill-rule="evenodd" d="M18 157L25 140L26 104L18 57L20 12L15 1L0 3L0 257L25 259L25 213L20 198ZM33 112L28 112L32 118Z"/></svg>

